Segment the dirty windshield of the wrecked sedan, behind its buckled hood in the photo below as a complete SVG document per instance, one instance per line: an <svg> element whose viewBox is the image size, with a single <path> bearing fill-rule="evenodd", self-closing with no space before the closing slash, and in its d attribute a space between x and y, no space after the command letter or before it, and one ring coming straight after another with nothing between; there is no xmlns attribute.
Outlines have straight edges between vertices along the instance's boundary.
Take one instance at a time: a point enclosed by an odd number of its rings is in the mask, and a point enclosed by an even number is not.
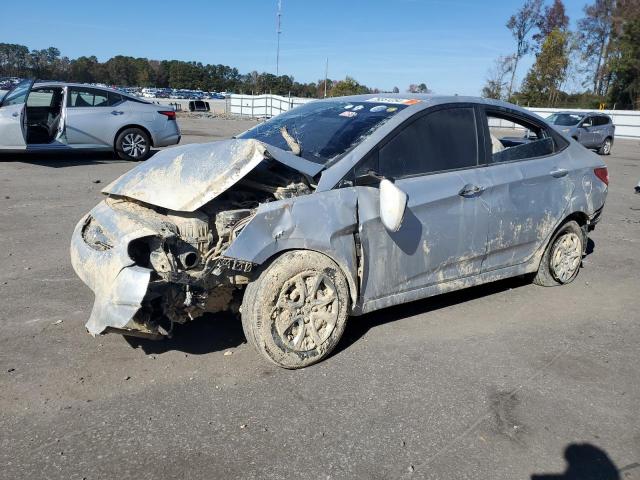
<svg viewBox="0 0 640 480"><path fill-rule="evenodd" d="M362 142L414 100L310 102L253 127L238 138L255 138L326 165Z"/></svg>

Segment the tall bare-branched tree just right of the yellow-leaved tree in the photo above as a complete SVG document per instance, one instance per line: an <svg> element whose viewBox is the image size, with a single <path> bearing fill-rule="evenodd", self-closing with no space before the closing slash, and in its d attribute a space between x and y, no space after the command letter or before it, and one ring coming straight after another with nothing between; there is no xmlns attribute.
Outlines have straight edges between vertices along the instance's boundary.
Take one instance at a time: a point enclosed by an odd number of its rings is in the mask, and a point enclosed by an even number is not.
<svg viewBox="0 0 640 480"><path fill-rule="evenodd" d="M578 21L582 60L592 73L593 93L604 95L616 0L595 0L584 7L585 17Z"/></svg>

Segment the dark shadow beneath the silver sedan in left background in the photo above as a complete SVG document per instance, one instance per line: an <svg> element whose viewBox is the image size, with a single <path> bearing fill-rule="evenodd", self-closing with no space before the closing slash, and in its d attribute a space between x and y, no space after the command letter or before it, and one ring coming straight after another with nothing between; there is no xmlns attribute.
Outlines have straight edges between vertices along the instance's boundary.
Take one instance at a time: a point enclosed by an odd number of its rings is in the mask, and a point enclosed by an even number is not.
<svg viewBox="0 0 640 480"><path fill-rule="evenodd" d="M159 150L151 150L151 158ZM21 152L2 153L0 162L3 163L28 163L30 165L40 165L42 167L62 168L74 167L77 165L96 165L103 163L131 163L132 166L139 162L132 160L121 160L113 152L91 152L91 151L60 151L60 152Z"/></svg>

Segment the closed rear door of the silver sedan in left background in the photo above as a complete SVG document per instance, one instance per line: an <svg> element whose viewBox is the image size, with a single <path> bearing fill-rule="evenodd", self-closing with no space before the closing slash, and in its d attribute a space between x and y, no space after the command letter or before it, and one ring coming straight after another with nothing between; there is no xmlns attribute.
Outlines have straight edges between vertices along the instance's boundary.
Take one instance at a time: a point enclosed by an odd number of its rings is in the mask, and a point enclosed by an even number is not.
<svg viewBox="0 0 640 480"><path fill-rule="evenodd" d="M116 132L127 124L129 106L117 92L89 87L67 89L67 143L113 147Z"/></svg>

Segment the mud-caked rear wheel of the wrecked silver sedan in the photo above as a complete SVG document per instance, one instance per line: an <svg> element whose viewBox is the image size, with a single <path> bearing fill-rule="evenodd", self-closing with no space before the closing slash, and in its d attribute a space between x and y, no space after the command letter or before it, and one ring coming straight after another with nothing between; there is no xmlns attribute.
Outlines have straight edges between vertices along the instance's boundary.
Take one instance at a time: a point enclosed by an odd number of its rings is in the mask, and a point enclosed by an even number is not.
<svg viewBox="0 0 640 480"><path fill-rule="evenodd" d="M573 220L562 225L547 245L533 283L554 287L571 283L580 271L584 233Z"/></svg>

